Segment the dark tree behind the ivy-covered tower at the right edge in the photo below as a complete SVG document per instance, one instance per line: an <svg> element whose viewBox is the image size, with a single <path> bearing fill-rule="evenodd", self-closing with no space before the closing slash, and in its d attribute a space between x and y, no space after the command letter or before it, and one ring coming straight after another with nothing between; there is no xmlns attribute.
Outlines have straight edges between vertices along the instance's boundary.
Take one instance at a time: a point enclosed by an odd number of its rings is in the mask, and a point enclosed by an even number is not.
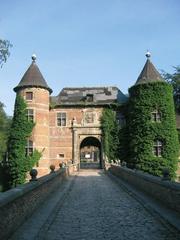
<svg viewBox="0 0 180 240"><path fill-rule="evenodd" d="M173 67L174 73L162 71L164 79L173 86L173 97L176 112L180 113L180 66Z"/></svg>

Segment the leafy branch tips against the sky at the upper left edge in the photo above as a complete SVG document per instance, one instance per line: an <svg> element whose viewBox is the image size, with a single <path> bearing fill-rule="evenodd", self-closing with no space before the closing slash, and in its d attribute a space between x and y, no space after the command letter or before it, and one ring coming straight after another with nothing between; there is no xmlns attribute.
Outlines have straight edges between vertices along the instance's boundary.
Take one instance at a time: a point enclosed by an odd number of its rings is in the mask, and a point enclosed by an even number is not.
<svg viewBox="0 0 180 240"><path fill-rule="evenodd" d="M8 40L0 39L0 66L3 66L10 56L9 49L12 47L12 44Z"/></svg>

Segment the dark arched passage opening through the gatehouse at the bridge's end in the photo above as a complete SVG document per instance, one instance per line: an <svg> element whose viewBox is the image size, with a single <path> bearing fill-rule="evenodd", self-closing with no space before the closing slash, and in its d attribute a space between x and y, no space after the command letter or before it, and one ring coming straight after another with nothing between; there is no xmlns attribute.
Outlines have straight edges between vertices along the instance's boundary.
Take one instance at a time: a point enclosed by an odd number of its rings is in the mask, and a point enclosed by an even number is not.
<svg viewBox="0 0 180 240"><path fill-rule="evenodd" d="M101 168L101 142L86 137L80 144L80 168Z"/></svg>

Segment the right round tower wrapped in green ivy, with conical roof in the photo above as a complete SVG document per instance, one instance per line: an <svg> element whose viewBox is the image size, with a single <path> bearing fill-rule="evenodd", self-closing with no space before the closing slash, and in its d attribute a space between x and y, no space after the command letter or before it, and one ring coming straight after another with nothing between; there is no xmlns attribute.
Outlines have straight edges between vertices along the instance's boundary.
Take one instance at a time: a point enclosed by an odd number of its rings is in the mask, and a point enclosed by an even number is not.
<svg viewBox="0 0 180 240"><path fill-rule="evenodd" d="M150 61L150 53L136 83L129 89L128 165L161 176L168 168L175 177L178 135L172 87Z"/></svg>

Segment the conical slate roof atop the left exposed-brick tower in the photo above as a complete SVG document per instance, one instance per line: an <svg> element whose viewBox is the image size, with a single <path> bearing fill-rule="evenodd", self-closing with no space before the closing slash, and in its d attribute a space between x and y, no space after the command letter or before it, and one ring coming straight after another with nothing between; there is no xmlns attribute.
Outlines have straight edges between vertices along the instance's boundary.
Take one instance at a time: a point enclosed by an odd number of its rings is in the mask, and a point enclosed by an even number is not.
<svg viewBox="0 0 180 240"><path fill-rule="evenodd" d="M26 87L39 87L45 88L50 93L52 93L52 89L47 85L43 75L41 74L38 66L36 65L35 58L32 58L33 61L29 66L28 70L25 72L19 84L14 88L14 91L17 92L21 88Z"/></svg>

